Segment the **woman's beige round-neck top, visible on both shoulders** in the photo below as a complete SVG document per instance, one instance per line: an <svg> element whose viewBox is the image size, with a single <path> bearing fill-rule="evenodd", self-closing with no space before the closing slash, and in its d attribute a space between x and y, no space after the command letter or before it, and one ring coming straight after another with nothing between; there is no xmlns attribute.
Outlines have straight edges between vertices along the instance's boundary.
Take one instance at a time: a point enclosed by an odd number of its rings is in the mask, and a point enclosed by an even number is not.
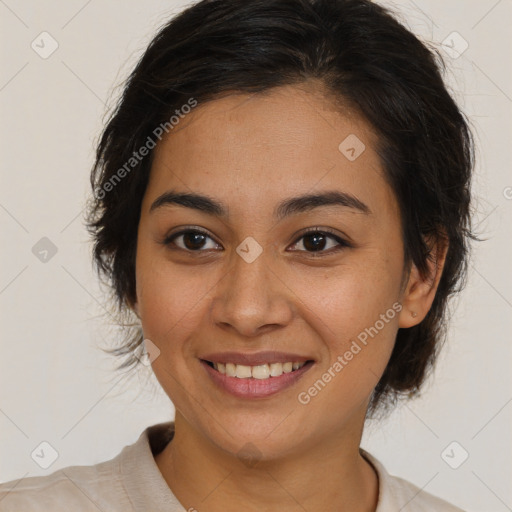
<svg viewBox="0 0 512 512"><path fill-rule="evenodd" d="M1 512L186 512L169 489L154 455L174 435L173 422L146 428L113 459L68 466L50 475L0 484ZM379 476L375 512L463 512L406 480L391 476L368 452ZM189 509L194 510L194 509Z"/></svg>

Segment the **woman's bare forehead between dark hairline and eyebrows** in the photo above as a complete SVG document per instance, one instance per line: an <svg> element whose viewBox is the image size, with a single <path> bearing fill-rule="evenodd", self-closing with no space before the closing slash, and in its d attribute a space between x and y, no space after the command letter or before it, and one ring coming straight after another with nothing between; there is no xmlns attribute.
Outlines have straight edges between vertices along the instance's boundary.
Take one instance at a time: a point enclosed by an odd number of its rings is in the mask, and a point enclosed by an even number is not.
<svg viewBox="0 0 512 512"><path fill-rule="evenodd" d="M376 142L364 120L314 88L233 94L199 104L162 139L147 194L179 188L250 207L338 189L389 203Z"/></svg>

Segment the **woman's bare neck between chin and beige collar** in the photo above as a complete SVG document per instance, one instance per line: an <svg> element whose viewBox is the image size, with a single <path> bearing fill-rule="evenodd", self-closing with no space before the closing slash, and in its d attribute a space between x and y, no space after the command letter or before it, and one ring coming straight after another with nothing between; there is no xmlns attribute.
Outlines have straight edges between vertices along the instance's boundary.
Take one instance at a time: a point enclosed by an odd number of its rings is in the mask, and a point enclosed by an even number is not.
<svg viewBox="0 0 512 512"><path fill-rule="evenodd" d="M177 411L174 438L155 462L186 510L374 512L378 478L359 453L361 434L326 437L282 459L241 460Z"/></svg>

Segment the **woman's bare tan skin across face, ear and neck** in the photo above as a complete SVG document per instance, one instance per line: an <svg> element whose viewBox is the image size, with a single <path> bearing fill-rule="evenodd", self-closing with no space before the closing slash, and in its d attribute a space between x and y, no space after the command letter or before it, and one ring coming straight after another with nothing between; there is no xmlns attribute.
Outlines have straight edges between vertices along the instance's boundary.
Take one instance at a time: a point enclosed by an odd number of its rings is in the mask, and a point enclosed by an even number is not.
<svg viewBox="0 0 512 512"><path fill-rule="evenodd" d="M338 149L350 134L366 146L354 161ZM378 478L359 453L365 412L398 328L427 314L445 254L430 278L413 266L404 285L400 214L376 140L355 113L307 83L199 105L157 146L138 229L133 309L160 350L152 367L176 408L175 437L155 461L185 509L375 510ZM171 189L221 201L229 216L178 205L150 212ZM327 190L354 195L371 213L323 206L273 217L282 200ZM202 246L183 236L174 246L162 243L185 226L210 238ZM299 231L316 227L351 246L336 250L328 237L315 252ZM263 249L252 263L236 252L248 236ZM299 403L298 393L397 302L400 313L308 404ZM199 362L211 352L264 350L315 365L271 397L241 399L214 386ZM240 457L248 443L250 464Z"/></svg>

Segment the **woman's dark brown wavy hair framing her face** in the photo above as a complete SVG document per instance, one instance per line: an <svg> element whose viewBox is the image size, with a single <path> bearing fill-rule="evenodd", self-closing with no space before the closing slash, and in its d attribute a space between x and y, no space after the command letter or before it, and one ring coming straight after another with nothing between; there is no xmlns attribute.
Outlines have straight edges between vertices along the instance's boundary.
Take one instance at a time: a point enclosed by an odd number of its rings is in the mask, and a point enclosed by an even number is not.
<svg viewBox="0 0 512 512"><path fill-rule="evenodd" d="M476 238L473 137L445 71L432 43L370 0L203 0L176 15L126 80L91 172L87 229L117 312L129 315L136 302L137 227L153 159L152 150L140 159L134 152L149 145L155 128L170 131L170 116L191 98L204 104L314 80L378 135L374 149L400 208L407 268L414 263L428 276L429 243L449 242L433 304L418 325L398 330L368 412L417 395L446 337L447 301L465 284ZM142 342L139 326L108 350L123 358L118 370L138 364Z"/></svg>

